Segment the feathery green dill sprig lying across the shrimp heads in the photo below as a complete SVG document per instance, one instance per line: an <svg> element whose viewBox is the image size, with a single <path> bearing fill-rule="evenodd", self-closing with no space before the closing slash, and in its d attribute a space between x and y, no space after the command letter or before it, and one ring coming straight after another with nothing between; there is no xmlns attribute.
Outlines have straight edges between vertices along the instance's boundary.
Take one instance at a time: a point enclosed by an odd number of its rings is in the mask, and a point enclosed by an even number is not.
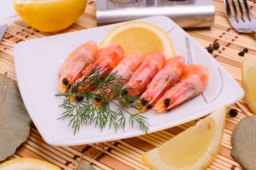
<svg viewBox="0 0 256 170"><path fill-rule="evenodd" d="M146 112L139 105L141 99L139 96L128 96L124 93L132 88L123 88L121 80L123 80L122 77L116 73L100 75L99 69L93 69L81 82L72 85L72 90L68 93L56 95L65 97L63 103L59 105L65 109L65 112L59 119L69 119L68 126L74 129L75 134L81 126L88 126L92 123L95 123L95 127L101 130L107 125L108 128L113 126L116 131L120 127L125 129L126 118L129 116L129 124L132 127L137 122L140 130L147 132L149 124L147 118L144 117ZM79 87L83 87L83 90L79 90ZM107 88L111 90L105 93ZM99 91L104 93L97 93ZM114 94L111 98L108 97L110 93ZM82 101L77 101L76 97L82 98ZM102 102L96 102L96 99ZM133 108L132 111L129 111L129 108Z"/></svg>

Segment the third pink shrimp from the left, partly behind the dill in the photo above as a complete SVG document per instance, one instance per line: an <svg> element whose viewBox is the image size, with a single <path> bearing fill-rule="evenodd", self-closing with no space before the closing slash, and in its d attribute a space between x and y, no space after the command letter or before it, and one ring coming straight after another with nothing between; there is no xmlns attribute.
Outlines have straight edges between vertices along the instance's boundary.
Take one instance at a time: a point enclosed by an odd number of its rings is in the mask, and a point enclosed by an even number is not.
<svg viewBox="0 0 256 170"><path fill-rule="evenodd" d="M139 65L141 64L142 54L139 51L130 52L124 55L124 58L117 64L117 66L110 72L110 74L115 73L115 75L120 75L121 79L116 80L113 84L126 84L132 74L137 70ZM110 88L104 89L104 91L97 91L98 94L108 94L106 97L113 98L116 94L109 93L111 91ZM95 103L101 104L103 99L96 98Z"/></svg>

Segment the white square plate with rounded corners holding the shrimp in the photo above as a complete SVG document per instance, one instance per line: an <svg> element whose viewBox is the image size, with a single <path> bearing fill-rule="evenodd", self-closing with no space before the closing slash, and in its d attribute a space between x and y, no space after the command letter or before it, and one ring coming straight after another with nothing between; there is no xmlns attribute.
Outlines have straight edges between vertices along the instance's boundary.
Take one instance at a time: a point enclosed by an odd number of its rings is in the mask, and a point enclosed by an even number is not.
<svg viewBox="0 0 256 170"><path fill-rule="evenodd" d="M149 111L148 133L164 130L213 112L224 104L234 104L244 96L241 86L231 75L189 34L164 16L139 19L162 28L171 38L177 55L186 58L186 64L196 63L207 66L210 79L202 94L173 108L168 113ZM74 130L68 127L69 120L58 119L65 111L59 108L63 98L56 97L59 82L58 71L61 61L65 60L77 46L95 40L98 44L115 26L85 29L71 33L38 38L18 43L14 48L14 62L18 86L23 102L31 119L38 128L43 139L57 146L74 146L112 141L143 135L139 125L132 128L127 123L126 128L108 127L106 129L83 126L74 135Z"/></svg>

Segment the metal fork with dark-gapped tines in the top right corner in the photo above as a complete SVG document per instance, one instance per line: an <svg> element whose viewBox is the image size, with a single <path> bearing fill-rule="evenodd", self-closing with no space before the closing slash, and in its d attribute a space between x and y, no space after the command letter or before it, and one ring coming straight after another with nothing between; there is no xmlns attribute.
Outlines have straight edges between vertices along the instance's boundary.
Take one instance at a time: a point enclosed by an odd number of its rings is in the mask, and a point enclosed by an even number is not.
<svg viewBox="0 0 256 170"><path fill-rule="evenodd" d="M224 0L225 8L229 18L229 23L232 28L239 33L252 33L256 32L256 19L249 8L246 0L243 0L244 8L239 0L236 0L236 4L239 7L240 15L236 9L234 0L231 0L232 7L235 15L232 14L228 0ZM245 9L245 11L244 11Z"/></svg>

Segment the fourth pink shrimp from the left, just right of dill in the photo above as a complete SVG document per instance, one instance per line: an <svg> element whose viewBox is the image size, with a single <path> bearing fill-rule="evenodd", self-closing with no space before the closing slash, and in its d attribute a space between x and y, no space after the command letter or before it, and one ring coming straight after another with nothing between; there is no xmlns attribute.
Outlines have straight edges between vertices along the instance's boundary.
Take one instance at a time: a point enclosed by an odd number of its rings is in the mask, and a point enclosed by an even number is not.
<svg viewBox="0 0 256 170"><path fill-rule="evenodd" d="M165 56L161 50L146 53L142 57L143 61L141 65L122 88L132 88L123 90L123 93L128 96L139 96L143 90L146 90L147 85L157 74L157 72L164 67Z"/></svg>

